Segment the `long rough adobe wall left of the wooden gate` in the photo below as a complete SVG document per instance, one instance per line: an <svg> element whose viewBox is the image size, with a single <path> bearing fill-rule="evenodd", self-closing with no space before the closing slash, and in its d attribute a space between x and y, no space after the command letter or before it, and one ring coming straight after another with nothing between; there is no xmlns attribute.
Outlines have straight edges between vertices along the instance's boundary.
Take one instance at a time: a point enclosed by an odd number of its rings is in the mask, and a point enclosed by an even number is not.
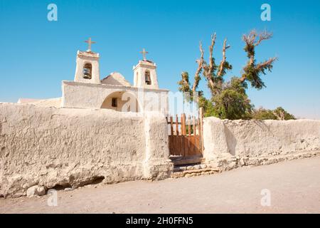
<svg viewBox="0 0 320 228"><path fill-rule="evenodd" d="M166 119L145 114L0 103L0 196L169 177Z"/></svg>

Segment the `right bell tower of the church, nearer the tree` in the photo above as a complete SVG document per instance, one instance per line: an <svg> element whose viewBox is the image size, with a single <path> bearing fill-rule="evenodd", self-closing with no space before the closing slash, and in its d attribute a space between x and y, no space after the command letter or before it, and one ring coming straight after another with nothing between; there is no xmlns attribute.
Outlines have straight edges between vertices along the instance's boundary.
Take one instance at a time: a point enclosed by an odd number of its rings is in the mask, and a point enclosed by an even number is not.
<svg viewBox="0 0 320 228"><path fill-rule="evenodd" d="M137 66L133 67L134 86L138 88L159 88L158 79L156 78L156 63L146 60L146 52L141 51L143 60L139 61Z"/></svg>

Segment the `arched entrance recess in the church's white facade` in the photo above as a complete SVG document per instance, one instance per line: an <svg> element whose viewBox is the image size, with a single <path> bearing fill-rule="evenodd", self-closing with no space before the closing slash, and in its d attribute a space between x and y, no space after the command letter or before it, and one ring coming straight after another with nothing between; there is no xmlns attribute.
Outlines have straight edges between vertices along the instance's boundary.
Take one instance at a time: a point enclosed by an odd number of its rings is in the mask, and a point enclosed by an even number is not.
<svg viewBox="0 0 320 228"><path fill-rule="evenodd" d="M118 112L138 113L140 111L136 95L127 91L111 93L105 98L101 108L112 109Z"/></svg>

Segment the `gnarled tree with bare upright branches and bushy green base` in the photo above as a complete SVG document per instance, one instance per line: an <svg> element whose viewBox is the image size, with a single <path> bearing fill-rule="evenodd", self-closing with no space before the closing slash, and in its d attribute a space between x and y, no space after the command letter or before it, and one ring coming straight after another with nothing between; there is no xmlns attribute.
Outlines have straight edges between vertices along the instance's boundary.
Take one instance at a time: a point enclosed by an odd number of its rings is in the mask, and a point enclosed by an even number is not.
<svg viewBox="0 0 320 228"><path fill-rule="evenodd" d="M233 77L228 82L225 82L224 76L233 68L227 61L227 50L230 48L230 45L227 44L228 40L225 38L223 41L222 59L219 64L216 64L215 58L213 58L216 38L216 33L213 33L208 49L208 62L204 60L203 56L205 51L200 42L199 50L201 57L196 61L198 68L194 76L193 85L191 86L189 82L188 73L183 72L181 74L181 81L178 82L180 85L179 90L189 93L189 98L199 92L199 98L201 98L199 100L203 104L201 107L211 107L208 108L208 110L213 110L213 106L218 107L215 110L220 112L218 114L219 116L230 118L245 117L247 113L250 113L252 110L252 105L246 94L247 82L250 82L254 88L263 88L265 84L260 78L260 75L266 74L266 71L272 71L273 63L277 60L277 58L269 58L261 63L256 63L255 59L255 48L259 46L262 41L272 38L272 33L264 31L258 34L257 31L252 30L250 33L242 36L242 40L245 41L245 51L249 60L242 69L242 75L240 77ZM202 91L198 91L201 76L206 78L208 88L210 88L210 99L204 98ZM193 98L190 100L192 99ZM201 102L199 102L199 105Z"/></svg>

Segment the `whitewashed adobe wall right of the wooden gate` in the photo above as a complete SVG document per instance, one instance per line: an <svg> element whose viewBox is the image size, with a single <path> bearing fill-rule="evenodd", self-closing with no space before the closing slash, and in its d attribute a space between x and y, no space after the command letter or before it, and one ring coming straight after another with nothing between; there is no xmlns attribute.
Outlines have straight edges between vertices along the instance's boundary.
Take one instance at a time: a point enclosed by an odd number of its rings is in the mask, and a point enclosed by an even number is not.
<svg viewBox="0 0 320 228"><path fill-rule="evenodd" d="M320 150L320 120L220 120L205 118L204 157L261 157Z"/></svg>

